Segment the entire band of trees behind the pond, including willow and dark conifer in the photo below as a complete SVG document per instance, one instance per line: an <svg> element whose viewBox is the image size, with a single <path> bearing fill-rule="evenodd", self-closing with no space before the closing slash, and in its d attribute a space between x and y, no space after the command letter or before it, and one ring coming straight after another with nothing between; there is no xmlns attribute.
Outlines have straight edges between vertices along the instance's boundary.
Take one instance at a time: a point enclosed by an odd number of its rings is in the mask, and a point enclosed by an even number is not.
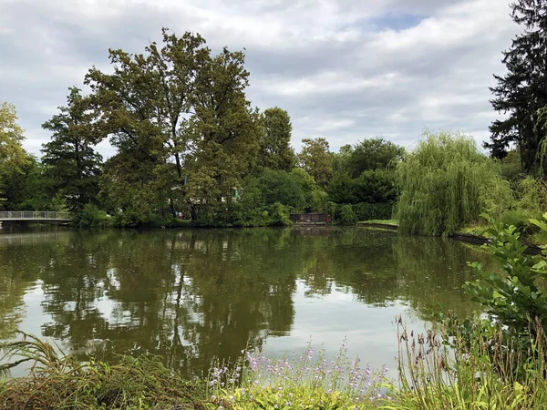
<svg viewBox="0 0 547 410"><path fill-rule="evenodd" d="M524 32L491 89L508 114L490 127L493 159L442 132L409 154L381 138L339 152L304 138L296 154L289 114L247 99L243 52L214 55L201 36L163 29L141 54L109 50L109 74L92 67L84 78L88 95L69 89L43 124L41 159L22 149L15 108L0 107L0 208L71 210L82 226L176 224L181 214L194 225L284 225L289 212L325 211L348 224L395 216L403 231L434 235L490 210L533 231L526 220L547 202L547 4L511 9ZM115 149L106 161L95 149L104 140Z"/></svg>

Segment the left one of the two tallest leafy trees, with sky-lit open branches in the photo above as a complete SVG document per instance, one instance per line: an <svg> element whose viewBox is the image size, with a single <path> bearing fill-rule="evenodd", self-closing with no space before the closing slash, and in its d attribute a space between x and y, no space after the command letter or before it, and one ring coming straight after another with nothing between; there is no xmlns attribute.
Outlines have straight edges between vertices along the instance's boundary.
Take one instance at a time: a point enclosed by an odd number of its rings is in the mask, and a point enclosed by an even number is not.
<svg viewBox="0 0 547 410"><path fill-rule="evenodd" d="M103 138L118 149L105 175L117 210L142 216L163 211L169 200L175 211L191 145L196 77L210 55L204 43L199 35L178 37L163 29L162 46L151 43L143 54L109 50L113 74L89 70L86 84Z"/></svg>

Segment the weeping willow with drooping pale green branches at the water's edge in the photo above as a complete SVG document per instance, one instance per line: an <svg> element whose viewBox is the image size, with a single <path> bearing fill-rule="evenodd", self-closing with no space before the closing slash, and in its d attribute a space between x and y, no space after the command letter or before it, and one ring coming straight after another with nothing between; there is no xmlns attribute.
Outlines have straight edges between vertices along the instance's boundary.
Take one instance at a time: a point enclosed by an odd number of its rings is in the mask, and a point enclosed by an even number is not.
<svg viewBox="0 0 547 410"><path fill-rule="evenodd" d="M398 164L396 179L400 230L410 234L449 235L478 221L484 210L499 213L512 201L499 164L459 133L426 132Z"/></svg>

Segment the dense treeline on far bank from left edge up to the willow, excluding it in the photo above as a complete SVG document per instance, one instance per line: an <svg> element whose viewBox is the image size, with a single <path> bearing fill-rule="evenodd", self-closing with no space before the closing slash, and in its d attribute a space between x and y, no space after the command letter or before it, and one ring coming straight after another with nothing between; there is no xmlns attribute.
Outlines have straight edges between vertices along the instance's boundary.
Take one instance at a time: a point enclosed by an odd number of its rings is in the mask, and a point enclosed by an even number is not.
<svg viewBox="0 0 547 410"><path fill-rule="evenodd" d="M51 140L41 159L22 149L15 108L3 106L3 209L71 210L84 226L169 224L180 214L196 225L284 225L289 212L325 211L329 201L382 204L368 214L390 216L403 149L372 139L333 153L325 138L304 138L296 155L288 113L247 100L242 52L215 56L199 35L162 35L142 54L109 50L112 73L92 67L88 95L69 89L43 124ZM103 140L116 150L106 161L95 149Z"/></svg>

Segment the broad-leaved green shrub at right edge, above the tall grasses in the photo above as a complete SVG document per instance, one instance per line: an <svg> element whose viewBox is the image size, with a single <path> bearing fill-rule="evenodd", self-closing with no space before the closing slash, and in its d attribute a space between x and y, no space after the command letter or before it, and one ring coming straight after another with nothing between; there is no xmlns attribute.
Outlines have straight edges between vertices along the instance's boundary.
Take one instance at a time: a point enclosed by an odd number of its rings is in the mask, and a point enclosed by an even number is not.
<svg viewBox="0 0 547 410"><path fill-rule="evenodd" d="M486 249L500 261L502 270L485 272L480 263L470 263L479 279L467 282L466 290L494 315L496 322L520 336L527 332L531 318L547 317L547 292L543 285L547 262L545 255L538 260L524 253L526 246L515 226L489 220L491 241ZM544 222L532 223L547 231Z"/></svg>

